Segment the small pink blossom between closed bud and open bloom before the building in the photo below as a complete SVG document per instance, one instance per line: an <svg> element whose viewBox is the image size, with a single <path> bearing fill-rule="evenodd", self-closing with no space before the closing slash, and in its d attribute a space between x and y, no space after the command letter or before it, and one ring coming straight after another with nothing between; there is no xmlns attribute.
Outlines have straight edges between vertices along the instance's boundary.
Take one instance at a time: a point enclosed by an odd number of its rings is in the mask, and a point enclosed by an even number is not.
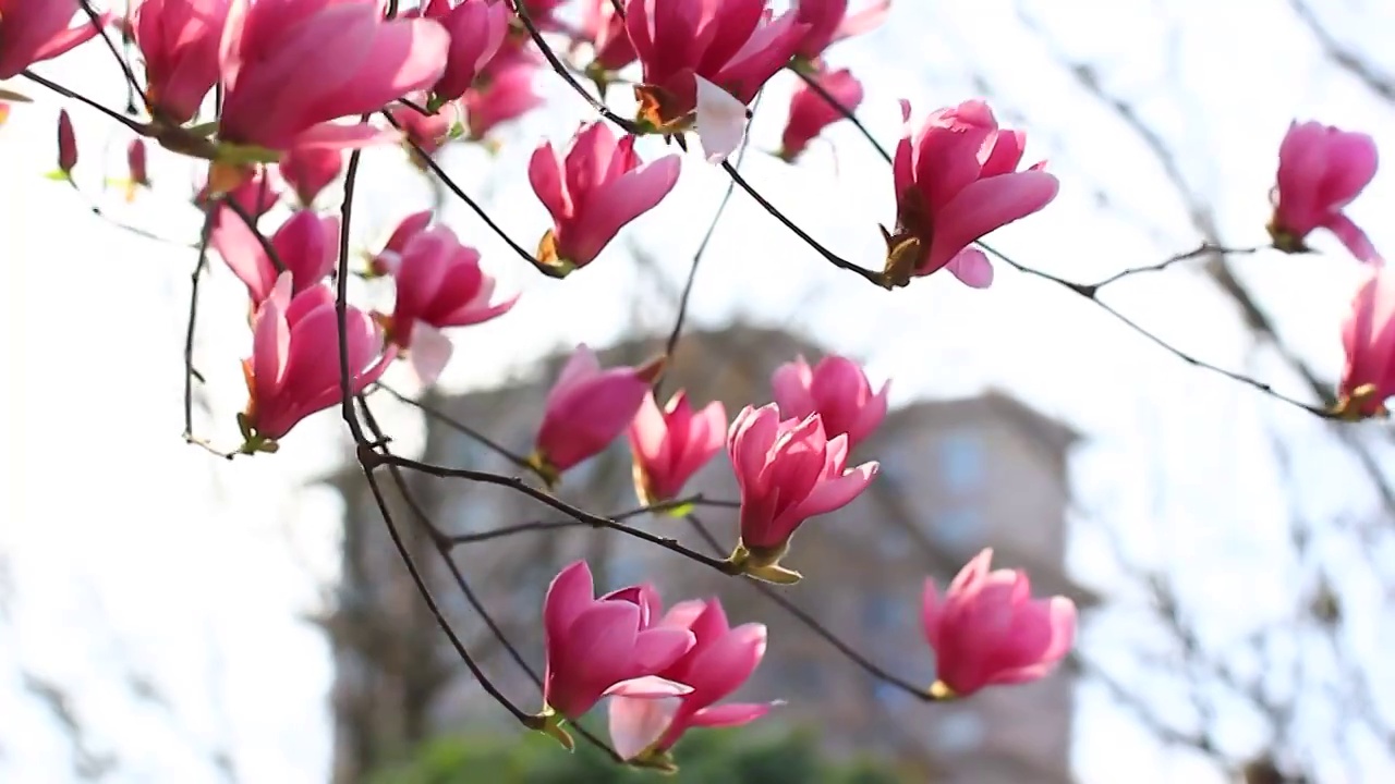
<svg viewBox="0 0 1395 784"><path fill-rule="evenodd" d="M629 424L635 455L635 490L646 505L678 498L684 484L721 451L727 437L727 407L721 400L693 412L688 395L678 392L660 410L654 395L644 395Z"/></svg>

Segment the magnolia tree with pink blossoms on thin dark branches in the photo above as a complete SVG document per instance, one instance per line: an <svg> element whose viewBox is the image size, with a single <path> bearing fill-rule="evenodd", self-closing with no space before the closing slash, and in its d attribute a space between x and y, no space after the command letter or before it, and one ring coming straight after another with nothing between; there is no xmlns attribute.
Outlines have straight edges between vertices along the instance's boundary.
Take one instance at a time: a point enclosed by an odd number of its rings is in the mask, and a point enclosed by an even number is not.
<svg viewBox="0 0 1395 784"><path fill-rule="evenodd" d="M151 187L152 151L195 159L206 169L195 198L205 215L199 269L205 258L216 257L246 285L252 349L241 360L247 382L247 405L237 414L241 444L212 444L190 428L184 437L191 444L227 459L273 460L283 444L294 442L299 423L338 407L388 526L393 522L384 502L385 481L402 487L403 476L417 472L490 483L731 579L753 580L774 597L778 586L804 579L792 545L801 526L845 506L876 480L879 463L851 466L848 453L882 423L886 388L875 391L847 359L810 367L791 357L771 379L774 400L752 400L728 420L721 403L695 410L682 391L660 393L667 357L603 368L590 349L576 346L538 413L531 453L519 459L529 477L393 453L389 434L365 402L386 368L403 363L430 388L452 360L452 332L509 318L518 296L498 292L480 252L431 211L402 220L367 261L352 258L347 237L361 149L403 145L413 165L474 209L522 262L555 279L605 264L621 229L667 198L684 166L720 167L815 255L868 283L854 294L868 301L940 272L988 289L995 265L1007 265L1119 315L1098 300L1119 279L1204 254L1257 250L1204 244L1099 282L1056 278L1007 258L983 237L1049 208L1059 183L1045 162L1021 167L1027 134L1000 127L985 100L968 98L914 121L912 103L903 100L907 124L893 152L864 131L887 162L886 187L897 208L880 227L884 258L841 258L762 197L727 159L746 144L751 106L783 70L801 85L788 105L781 159L797 165L830 124L847 121L861 130L855 113L862 85L827 52L884 24L893 13L889 0L851 10L847 0L804 0L784 13L763 0L569 6L559 0L428 0L420 7L399 7L395 0L145 0L117 14L86 0L0 0L0 78L20 77L4 88L0 117L33 99L25 82L103 113L133 134L131 193ZM84 85L43 75L45 61L78 46L110 50L140 98L138 109L103 106ZM565 149L543 142L529 160L527 180L552 219L529 251L495 227L432 153L452 140L483 142L491 128L543 110L533 92L538 74L565 81L591 106L594 119ZM631 88L633 114L610 107L617 85ZM675 149L643 160L635 149L643 137ZM54 177L73 181L80 151L66 112L57 138ZM1310 406L1281 398L1260 381L1191 361L1317 417L1385 417L1385 400L1395 393L1395 278L1342 212L1374 177L1375 146L1367 135L1307 121L1292 124L1276 153L1272 247L1307 252L1306 239L1325 230L1368 268L1350 314L1332 325L1346 350L1336 402ZM317 209L321 191L340 179L342 206ZM1256 183L1264 187L1268 183ZM289 216L271 225L264 218L276 205L289 206ZM350 289L354 278L367 285ZM384 299L391 308L356 303L350 294L364 287L391 292ZM195 286L191 336L197 297ZM682 317L670 350L681 332ZM186 371L188 407L191 360ZM572 467L622 437L632 446L636 494L651 511L713 504L685 498L684 488L725 452L739 487L739 501L731 502L739 508L739 538L717 543L709 536L696 550L554 494ZM420 523L431 536L446 537L430 520ZM759 677L763 625L732 628L716 600L679 601L665 611L650 585L596 596L585 561L552 579L538 608L547 663L541 704L520 707L474 665L437 610L413 555L396 534L393 541L442 633L481 686L522 727L568 748L579 732L617 762L672 769L670 752L686 732L746 724L770 709L725 702ZM936 679L910 684L880 670L872 674L926 702L967 699L985 688L1041 678L1067 656L1076 636L1074 605L1063 597L1034 597L1025 573L993 569L990 550L970 559L947 586L926 580L919 621L933 649ZM850 661L866 665L858 656ZM576 724L607 696L608 741Z"/></svg>

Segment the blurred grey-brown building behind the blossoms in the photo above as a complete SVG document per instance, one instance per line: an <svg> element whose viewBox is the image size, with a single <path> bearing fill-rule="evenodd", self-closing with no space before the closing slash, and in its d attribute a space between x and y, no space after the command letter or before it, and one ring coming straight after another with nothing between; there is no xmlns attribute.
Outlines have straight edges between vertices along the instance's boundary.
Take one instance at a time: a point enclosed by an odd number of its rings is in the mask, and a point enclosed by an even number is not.
<svg viewBox="0 0 1395 784"><path fill-rule="evenodd" d="M660 340L633 342L601 352L601 359L605 365L635 364L658 350ZM698 405L723 400L731 417L746 403L769 400L771 370L797 354L813 361L822 352L777 331L686 335L665 389L686 389ZM427 405L526 453L562 361L543 363L540 377L527 382ZM985 545L995 547L995 564L1027 568L1038 591L1062 593L1088 607L1094 597L1063 569L1067 452L1076 438L1060 423L996 392L893 410L854 455L855 462L880 460L879 478L845 509L805 523L787 564L806 579L780 590L877 665L926 686L933 661L919 621L925 579L944 586ZM444 420L430 424L424 459L520 473ZM732 622L767 624L766 660L738 698L785 700L774 720L815 723L833 749L894 755L905 763L908 781L1071 780L1073 688L1064 674L989 689L954 704L925 704L866 675L745 580L585 526L541 527L456 547L455 575L418 525L413 505L451 534L562 523L562 518L509 488L424 476L407 478L414 504L406 504L388 474L382 477L395 527L452 628L490 679L525 710L540 707L540 691L472 611L465 589L490 610L518 656L540 671L543 594L562 565L587 558L603 590L653 580L668 603L720 596ZM483 693L439 632L402 568L363 477L350 472L335 481L346 498L343 585L335 612L324 622L338 661L336 780L350 783L435 732L511 717ZM720 455L689 488L709 499L737 497ZM625 441L569 472L559 494L603 513L635 508ZM735 543L734 511L699 508L696 516L717 536L720 555L727 555ZM706 548L682 519L638 516L631 522ZM596 725L604 730L603 721Z"/></svg>

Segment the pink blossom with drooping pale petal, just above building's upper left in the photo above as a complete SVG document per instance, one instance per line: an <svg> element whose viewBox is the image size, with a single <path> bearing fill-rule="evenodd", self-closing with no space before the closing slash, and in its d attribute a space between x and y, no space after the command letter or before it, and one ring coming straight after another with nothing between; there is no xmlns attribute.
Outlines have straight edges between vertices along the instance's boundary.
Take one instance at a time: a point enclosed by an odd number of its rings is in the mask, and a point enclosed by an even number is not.
<svg viewBox="0 0 1395 784"><path fill-rule="evenodd" d="M407 352L417 378L431 385L453 346L441 332L504 315L518 294L494 300L494 278L480 268L480 252L462 246L445 226L421 230L403 244L395 265L396 303L379 317L388 340Z"/></svg>

